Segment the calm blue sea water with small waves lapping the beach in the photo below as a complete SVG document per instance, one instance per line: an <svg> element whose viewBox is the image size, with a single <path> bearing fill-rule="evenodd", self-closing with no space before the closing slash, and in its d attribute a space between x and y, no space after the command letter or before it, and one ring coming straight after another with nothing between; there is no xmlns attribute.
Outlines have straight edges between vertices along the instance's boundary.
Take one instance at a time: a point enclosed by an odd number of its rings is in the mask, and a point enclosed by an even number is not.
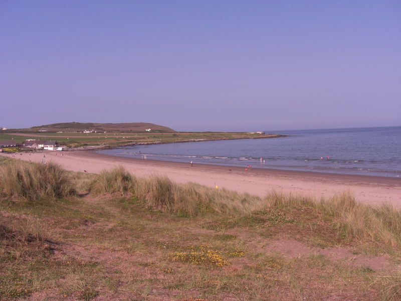
<svg viewBox="0 0 401 301"><path fill-rule="evenodd" d="M193 161L194 164L244 168L251 165L281 170L401 178L401 126L275 133L289 136L137 145L101 150L101 153L139 159L146 155L147 160L188 164Z"/></svg>

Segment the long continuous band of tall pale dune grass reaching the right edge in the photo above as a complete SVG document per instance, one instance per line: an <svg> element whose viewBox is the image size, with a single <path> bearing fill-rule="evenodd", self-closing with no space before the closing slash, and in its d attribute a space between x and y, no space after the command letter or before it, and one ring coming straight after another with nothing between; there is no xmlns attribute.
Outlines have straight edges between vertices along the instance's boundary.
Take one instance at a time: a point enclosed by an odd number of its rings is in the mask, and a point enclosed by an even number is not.
<svg viewBox="0 0 401 301"><path fill-rule="evenodd" d="M236 225L235 221L242 224L275 219L291 222L297 216L315 212L318 224L330 223L336 238L343 243L370 240L379 245L401 247L400 211L390 205L373 207L358 203L350 193L326 200L277 192L259 198L194 183L177 184L167 177L134 178L122 167L101 172L90 184L90 191L130 193L146 208L179 216L232 217L231 226Z"/></svg>

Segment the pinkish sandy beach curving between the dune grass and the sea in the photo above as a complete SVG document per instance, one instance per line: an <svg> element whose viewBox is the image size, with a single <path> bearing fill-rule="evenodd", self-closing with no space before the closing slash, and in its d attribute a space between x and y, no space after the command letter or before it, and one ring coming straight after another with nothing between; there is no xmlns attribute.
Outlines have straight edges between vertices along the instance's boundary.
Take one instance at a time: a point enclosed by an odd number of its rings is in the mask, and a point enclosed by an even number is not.
<svg viewBox="0 0 401 301"><path fill-rule="evenodd" d="M63 155L63 156L62 156ZM15 155L1 154L12 157ZM45 156L45 158L44 158ZM401 208L401 179L386 177L323 174L270 169L246 171L243 168L138 160L107 156L88 151L21 153L15 158L40 162L55 162L75 172L99 173L123 166L137 177L167 176L178 183L194 182L209 187L219 186L240 193L265 196L278 191L327 198L342 192L351 192L357 201L377 205L389 203Z"/></svg>

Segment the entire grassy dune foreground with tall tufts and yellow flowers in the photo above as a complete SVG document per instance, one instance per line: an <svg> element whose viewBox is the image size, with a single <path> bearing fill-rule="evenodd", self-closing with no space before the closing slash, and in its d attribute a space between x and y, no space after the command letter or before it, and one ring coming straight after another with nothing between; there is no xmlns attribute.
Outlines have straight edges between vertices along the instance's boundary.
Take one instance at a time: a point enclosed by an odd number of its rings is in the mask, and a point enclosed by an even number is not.
<svg viewBox="0 0 401 301"><path fill-rule="evenodd" d="M10 159L0 191L4 300L401 298L401 213L350 194L258 198Z"/></svg>

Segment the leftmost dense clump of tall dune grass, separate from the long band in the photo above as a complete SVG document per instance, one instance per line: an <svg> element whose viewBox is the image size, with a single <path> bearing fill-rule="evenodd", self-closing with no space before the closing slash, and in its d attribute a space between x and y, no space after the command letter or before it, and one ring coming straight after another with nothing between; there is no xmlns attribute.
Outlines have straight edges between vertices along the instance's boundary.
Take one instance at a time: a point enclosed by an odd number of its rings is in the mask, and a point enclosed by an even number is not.
<svg viewBox="0 0 401 301"><path fill-rule="evenodd" d="M0 166L0 189L3 195L28 201L75 194L67 172L54 163L6 162Z"/></svg>

